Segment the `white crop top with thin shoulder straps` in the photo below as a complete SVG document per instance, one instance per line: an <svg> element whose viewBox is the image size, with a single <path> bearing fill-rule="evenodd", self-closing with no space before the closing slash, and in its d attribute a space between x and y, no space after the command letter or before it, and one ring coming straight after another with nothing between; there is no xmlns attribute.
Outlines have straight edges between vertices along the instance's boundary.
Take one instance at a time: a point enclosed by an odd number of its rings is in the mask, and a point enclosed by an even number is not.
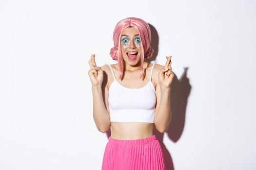
<svg viewBox="0 0 256 170"><path fill-rule="evenodd" d="M154 65L149 82L141 88L128 88L119 84L109 65L114 77L108 90L110 121L154 123L157 102L156 89L151 82Z"/></svg>

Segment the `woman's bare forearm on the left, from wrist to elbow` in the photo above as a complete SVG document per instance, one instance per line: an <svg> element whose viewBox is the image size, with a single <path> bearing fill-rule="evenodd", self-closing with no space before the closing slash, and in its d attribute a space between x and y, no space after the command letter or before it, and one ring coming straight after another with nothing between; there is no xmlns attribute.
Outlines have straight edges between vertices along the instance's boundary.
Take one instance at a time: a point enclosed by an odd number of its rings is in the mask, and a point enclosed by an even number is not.
<svg viewBox="0 0 256 170"><path fill-rule="evenodd" d="M98 130L106 132L110 127L108 111L103 102L101 86L92 86L93 92L93 119Z"/></svg>

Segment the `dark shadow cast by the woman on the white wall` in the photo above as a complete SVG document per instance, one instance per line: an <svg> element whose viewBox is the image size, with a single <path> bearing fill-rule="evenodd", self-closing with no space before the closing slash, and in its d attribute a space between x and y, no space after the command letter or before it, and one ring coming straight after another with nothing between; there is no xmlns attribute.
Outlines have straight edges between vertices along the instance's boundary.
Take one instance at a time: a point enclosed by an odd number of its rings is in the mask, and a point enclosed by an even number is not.
<svg viewBox="0 0 256 170"><path fill-rule="evenodd" d="M149 24L151 30L151 46L154 49L154 53L152 58L145 60L145 62L155 61L158 56L158 32L151 24ZM185 114L188 96L191 91L191 85L189 84L189 79L187 78L187 70L188 68L184 68L184 72L180 79L177 79L175 75L173 83L171 85L171 110L172 110L172 120L169 126L169 129L165 132L167 133L170 140L173 142L177 142L180 136L182 135L184 125L185 125ZM163 143L163 133L159 133L156 127L154 128L154 134L157 136L159 143L161 144L166 170L174 170L174 163L172 160L172 156L165 147ZM110 129L107 132L107 137L111 136Z"/></svg>

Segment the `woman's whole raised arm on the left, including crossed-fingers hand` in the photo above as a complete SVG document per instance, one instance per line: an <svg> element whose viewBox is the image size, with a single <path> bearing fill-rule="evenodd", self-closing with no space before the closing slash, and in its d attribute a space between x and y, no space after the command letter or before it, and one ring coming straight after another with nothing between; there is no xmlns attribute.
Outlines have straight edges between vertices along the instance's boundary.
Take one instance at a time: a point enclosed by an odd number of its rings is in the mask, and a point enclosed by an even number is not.
<svg viewBox="0 0 256 170"><path fill-rule="evenodd" d="M111 124L109 112L107 111L105 105L106 100L104 100L107 91L107 77L104 75L103 70L100 67L97 67L95 62L95 55L91 55L89 59L89 65L90 70L88 71L88 75L92 82L93 92L93 119L98 128L98 131L105 133L108 131Z"/></svg>

